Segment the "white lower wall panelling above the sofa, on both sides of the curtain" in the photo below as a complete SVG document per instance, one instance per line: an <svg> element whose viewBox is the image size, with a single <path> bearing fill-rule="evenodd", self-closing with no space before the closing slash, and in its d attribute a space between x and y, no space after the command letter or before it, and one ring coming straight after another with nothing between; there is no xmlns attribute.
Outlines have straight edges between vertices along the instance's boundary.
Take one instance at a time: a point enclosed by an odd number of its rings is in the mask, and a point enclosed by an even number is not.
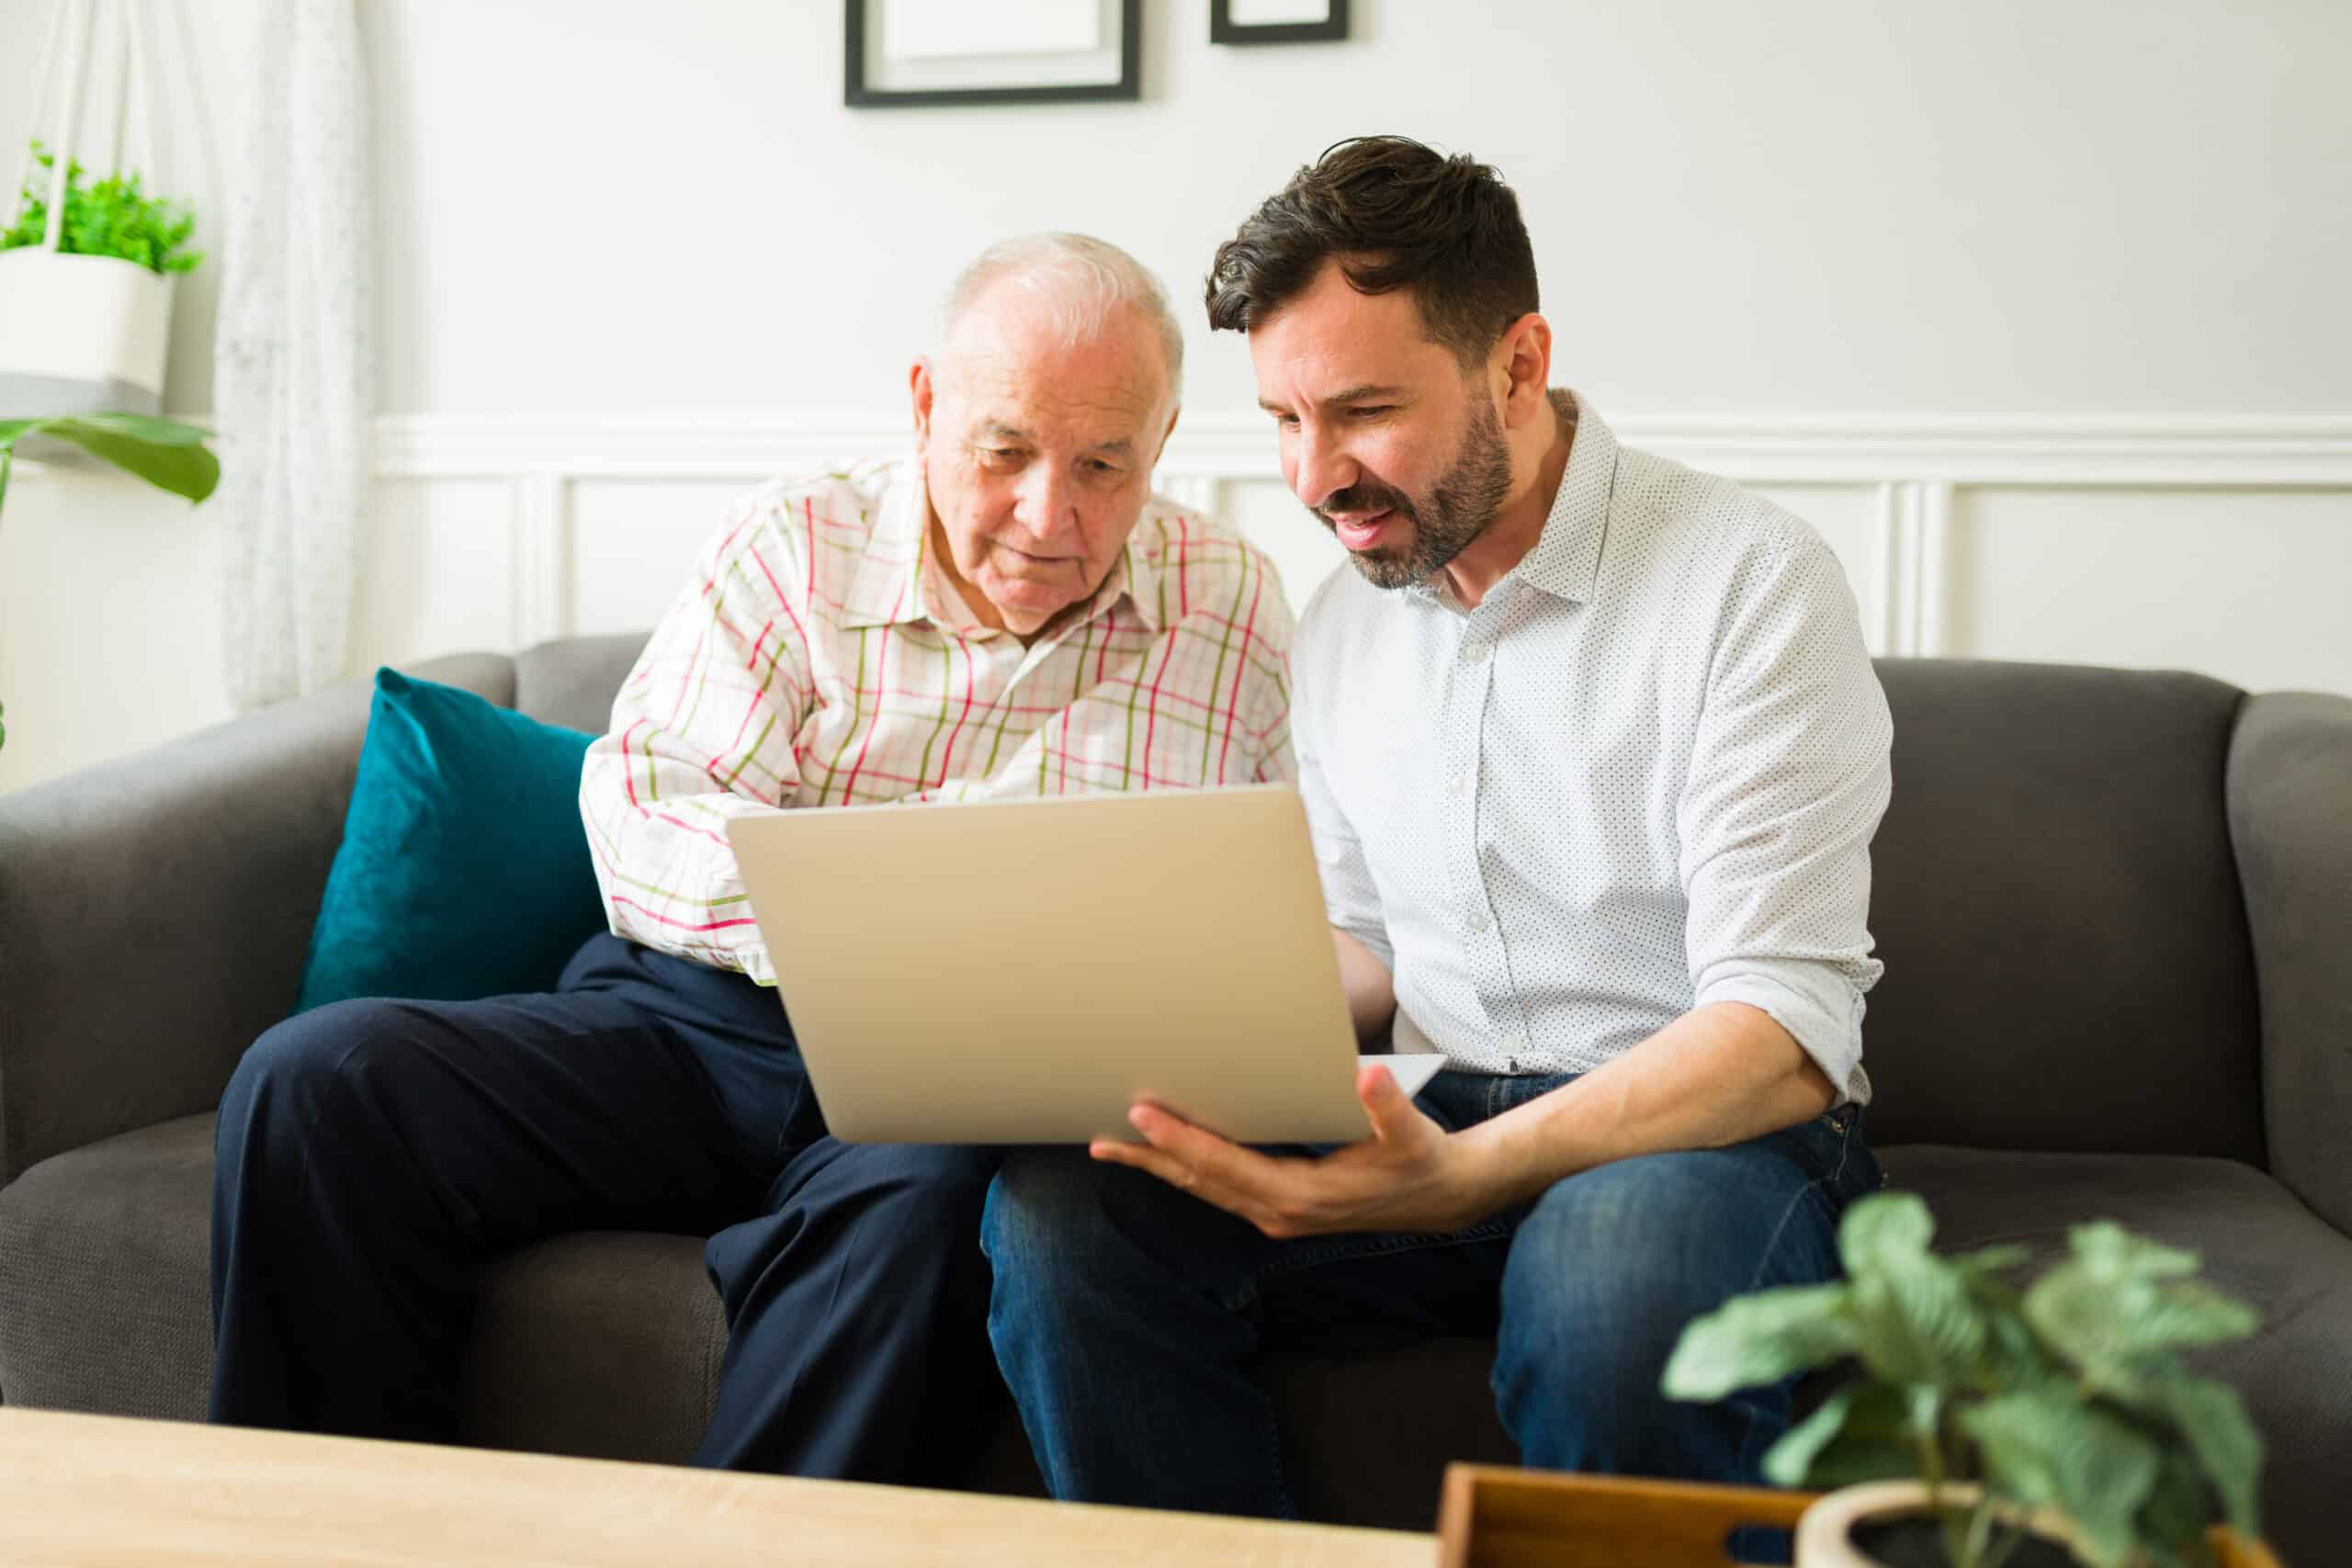
<svg viewBox="0 0 2352 1568"><path fill-rule="evenodd" d="M1820 529L1875 651L2352 693L2352 414L1613 423ZM644 630L731 494L898 451L903 418L386 416L376 444L353 672ZM1225 508L1294 602L1338 562L1275 477L1258 414L1188 416L1160 482ZM219 508L115 470L19 463L0 527L0 790L230 715L221 534Z"/></svg>

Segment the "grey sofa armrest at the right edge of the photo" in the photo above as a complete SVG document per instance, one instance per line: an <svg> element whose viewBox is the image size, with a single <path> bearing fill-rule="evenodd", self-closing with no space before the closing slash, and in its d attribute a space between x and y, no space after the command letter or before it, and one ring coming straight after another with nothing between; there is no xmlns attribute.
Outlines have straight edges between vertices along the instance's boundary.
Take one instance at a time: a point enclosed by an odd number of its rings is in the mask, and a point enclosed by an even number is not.
<svg viewBox="0 0 2352 1568"><path fill-rule="evenodd" d="M2270 1173L2352 1234L2352 698L2246 698L2227 790L2263 999Z"/></svg>

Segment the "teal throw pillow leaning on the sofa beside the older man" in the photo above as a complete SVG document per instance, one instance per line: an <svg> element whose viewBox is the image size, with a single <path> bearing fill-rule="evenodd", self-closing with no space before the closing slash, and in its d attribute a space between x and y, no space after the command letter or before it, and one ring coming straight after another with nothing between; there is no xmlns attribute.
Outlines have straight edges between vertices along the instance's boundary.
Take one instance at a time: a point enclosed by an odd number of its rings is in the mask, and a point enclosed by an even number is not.
<svg viewBox="0 0 2352 1568"><path fill-rule="evenodd" d="M376 670L294 1011L553 990L604 929L579 809L593 738Z"/></svg>

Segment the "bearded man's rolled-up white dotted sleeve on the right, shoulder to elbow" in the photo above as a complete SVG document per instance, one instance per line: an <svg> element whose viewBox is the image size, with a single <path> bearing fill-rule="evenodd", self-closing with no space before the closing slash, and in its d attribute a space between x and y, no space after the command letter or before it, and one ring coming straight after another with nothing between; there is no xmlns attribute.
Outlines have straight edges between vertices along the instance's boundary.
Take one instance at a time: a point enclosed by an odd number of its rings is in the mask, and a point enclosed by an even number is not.
<svg viewBox="0 0 2352 1568"><path fill-rule="evenodd" d="M1745 1001L1839 1100L1863 1079L1870 839L1893 724L1837 557L1804 536L1743 567L1679 802L1693 1006Z"/></svg>

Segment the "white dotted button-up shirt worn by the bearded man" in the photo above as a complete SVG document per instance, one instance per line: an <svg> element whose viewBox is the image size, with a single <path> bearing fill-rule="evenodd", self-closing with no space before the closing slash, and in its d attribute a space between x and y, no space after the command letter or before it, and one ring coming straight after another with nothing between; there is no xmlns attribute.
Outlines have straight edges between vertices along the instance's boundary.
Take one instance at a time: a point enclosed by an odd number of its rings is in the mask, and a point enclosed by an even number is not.
<svg viewBox="0 0 2352 1568"><path fill-rule="evenodd" d="M1867 1100L1893 726L1853 592L1797 517L1576 411L1543 538L1477 609L1350 567L1308 604L1331 924L1395 971L1397 1048L1583 1072L1745 1001Z"/></svg>

